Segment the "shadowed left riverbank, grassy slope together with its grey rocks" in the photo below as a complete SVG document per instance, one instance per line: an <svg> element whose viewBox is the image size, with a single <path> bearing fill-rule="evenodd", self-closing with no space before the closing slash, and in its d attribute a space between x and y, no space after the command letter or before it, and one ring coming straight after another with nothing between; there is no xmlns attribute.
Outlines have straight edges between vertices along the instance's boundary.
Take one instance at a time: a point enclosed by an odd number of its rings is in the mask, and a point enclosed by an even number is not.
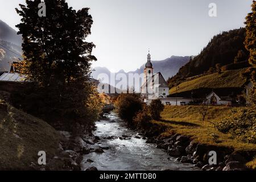
<svg viewBox="0 0 256 182"><path fill-rule="evenodd" d="M47 122L9 104L10 93L0 92L0 170L80 170L82 155L90 148L94 126L80 137L57 131ZM39 165L39 151L46 165Z"/></svg>

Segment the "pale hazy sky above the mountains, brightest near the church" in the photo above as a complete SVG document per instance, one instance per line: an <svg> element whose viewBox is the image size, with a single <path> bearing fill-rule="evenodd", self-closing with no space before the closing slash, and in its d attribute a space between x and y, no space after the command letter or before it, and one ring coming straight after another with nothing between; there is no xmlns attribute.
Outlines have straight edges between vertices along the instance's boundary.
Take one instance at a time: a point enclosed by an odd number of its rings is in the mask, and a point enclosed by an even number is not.
<svg viewBox="0 0 256 182"><path fill-rule="evenodd" d="M0 0L0 19L15 28L14 8L24 0ZM133 71L147 61L172 55L197 55L212 36L244 27L252 0L67 0L79 10L90 7L94 24L88 41L96 44L93 67ZM217 17L208 15L216 3ZM16 29L16 28L15 28Z"/></svg>

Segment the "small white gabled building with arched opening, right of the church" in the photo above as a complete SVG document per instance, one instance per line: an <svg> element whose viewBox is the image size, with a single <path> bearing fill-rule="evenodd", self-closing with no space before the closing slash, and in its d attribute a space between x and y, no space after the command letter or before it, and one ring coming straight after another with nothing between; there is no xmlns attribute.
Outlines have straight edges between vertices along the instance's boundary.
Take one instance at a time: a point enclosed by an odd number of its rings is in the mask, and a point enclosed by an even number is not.
<svg viewBox="0 0 256 182"><path fill-rule="evenodd" d="M219 97L215 92L207 96L205 104L209 105L232 105L232 99L229 97Z"/></svg>

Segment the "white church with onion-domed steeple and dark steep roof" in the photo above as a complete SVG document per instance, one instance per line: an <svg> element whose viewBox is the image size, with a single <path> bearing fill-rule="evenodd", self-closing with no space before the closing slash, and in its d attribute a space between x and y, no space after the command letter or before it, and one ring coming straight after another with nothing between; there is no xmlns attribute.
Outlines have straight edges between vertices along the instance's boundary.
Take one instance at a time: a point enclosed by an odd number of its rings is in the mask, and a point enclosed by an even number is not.
<svg viewBox="0 0 256 182"><path fill-rule="evenodd" d="M144 102L148 102L148 100L166 98L168 94L168 84L160 72L154 73L151 55L148 51L147 63L144 68L144 79L141 86L141 98Z"/></svg>

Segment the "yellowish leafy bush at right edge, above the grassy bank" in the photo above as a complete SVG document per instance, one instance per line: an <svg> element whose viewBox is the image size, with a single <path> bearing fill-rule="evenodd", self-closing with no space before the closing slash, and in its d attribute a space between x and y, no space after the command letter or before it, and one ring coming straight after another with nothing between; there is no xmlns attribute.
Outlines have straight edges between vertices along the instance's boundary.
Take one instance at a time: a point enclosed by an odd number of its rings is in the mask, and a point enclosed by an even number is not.
<svg viewBox="0 0 256 182"><path fill-rule="evenodd" d="M256 143L256 112L253 109L233 109L232 115L214 123L222 133L247 143Z"/></svg>

